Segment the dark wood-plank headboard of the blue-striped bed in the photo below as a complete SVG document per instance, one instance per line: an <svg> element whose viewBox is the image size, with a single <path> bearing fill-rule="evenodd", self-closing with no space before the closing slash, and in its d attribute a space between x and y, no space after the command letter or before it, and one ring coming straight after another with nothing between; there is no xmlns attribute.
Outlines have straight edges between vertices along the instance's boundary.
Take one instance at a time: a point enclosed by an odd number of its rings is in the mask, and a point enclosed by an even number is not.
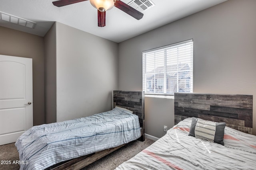
<svg viewBox="0 0 256 170"><path fill-rule="evenodd" d="M138 115L142 136L140 141L145 140L145 111L144 111L144 92L143 91L113 91L113 108L116 106L124 107Z"/></svg>

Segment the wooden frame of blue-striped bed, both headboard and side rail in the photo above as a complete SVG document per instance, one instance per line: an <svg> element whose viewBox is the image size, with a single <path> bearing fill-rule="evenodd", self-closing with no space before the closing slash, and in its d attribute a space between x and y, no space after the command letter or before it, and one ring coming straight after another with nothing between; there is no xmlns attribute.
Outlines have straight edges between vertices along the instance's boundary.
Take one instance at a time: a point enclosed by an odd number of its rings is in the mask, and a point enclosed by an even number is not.
<svg viewBox="0 0 256 170"><path fill-rule="evenodd" d="M113 91L113 108L116 106L123 107L133 111L134 114L138 115L141 127L141 137L139 141L145 140L145 123L144 123L144 92L143 91ZM74 158L72 160L60 162L53 166L46 168L45 170L80 170L85 166L95 162L96 160L110 154L111 152L123 147L126 144L120 145L118 147L102 150L99 152L94 152L85 156L80 156L79 158Z"/></svg>

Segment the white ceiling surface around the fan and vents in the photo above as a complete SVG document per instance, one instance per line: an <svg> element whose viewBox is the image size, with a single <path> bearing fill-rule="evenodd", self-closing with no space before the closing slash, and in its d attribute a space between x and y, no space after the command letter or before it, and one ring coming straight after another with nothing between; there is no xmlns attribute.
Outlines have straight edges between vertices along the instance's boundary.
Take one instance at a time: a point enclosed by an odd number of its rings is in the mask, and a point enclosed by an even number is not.
<svg viewBox="0 0 256 170"><path fill-rule="evenodd" d="M37 23L32 29L0 20L0 26L44 36L54 21L58 21L119 43L226 0L152 0L155 6L145 10L141 20L114 7L106 12L105 27L98 27L97 10L89 0L63 7L54 6L53 1L0 0L0 12ZM131 0L122 1L128 4Z"/></svg>

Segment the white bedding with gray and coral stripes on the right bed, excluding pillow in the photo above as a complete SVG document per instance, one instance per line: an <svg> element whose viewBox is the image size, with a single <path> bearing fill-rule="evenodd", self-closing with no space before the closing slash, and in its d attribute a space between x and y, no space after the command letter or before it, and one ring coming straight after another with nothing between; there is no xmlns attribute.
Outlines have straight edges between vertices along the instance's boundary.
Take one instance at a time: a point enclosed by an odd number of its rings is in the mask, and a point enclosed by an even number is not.
<svg viewBox="0 0 256 170"><path fill-rule="evenodd" d="M225 127L224 146L188 136L191 118L116 170L255 170L256 136Z"/></svg>

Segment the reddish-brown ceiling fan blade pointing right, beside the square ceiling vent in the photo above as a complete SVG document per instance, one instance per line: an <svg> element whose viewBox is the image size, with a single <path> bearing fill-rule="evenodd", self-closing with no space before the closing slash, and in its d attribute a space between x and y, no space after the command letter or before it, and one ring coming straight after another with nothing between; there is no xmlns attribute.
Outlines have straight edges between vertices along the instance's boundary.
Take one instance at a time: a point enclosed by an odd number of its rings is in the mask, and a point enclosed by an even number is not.
<svg viewBox="0 0 256 170"><path fill-rule="evenodd" d="M116 0L114 6L122 10L126 14L129 14L133 18L136 18L137 20L140 20L144 15L143 13L139 12L138 10L135 10L134 8L132 8L131 6L127 5L126 3L120 0Z"/></svg>

